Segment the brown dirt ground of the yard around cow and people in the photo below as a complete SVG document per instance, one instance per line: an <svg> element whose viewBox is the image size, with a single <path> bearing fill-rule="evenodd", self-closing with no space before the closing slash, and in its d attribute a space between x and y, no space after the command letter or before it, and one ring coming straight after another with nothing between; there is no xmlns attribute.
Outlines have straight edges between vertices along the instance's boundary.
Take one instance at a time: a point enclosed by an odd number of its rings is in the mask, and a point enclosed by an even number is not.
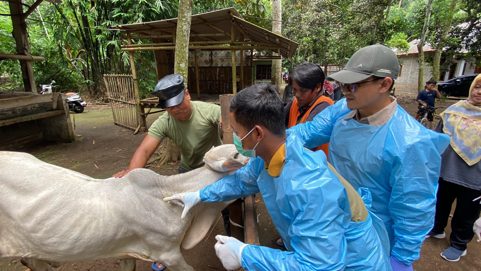
<svg viewBox="0 0 481 271"><path fill-rule="evenodd" d="M410 114L414 115L417 105L415 96L411 93L396 92L398 103ZM449 106L456 101L448 100L443 105ZM440 113L441 111L438 111ZM149 115L148 125L160 114ZM72 169L94 178L108 178L112 174L128 167L130 159L146 133L133 135L132 131L112 123L112 111L109 106L89 105L81 114L71 114L72 123L75 117L76 140L73 143L45 142L41 145L26 148L22 151L35 155L38 159ZM150 168L163 174L177 173L179 163L166 165L162 168ZM257 204L259 215L259 237L262 246L279 248L276 245L278 233L270 221L269 214L262 197ZM212 233L194 248L183 251L188 264L198 271L215 271L222 264L215 256L214 244L216 234L225 234L222 220L214 222ZM446 228L446 235L451 232ZM414 263L416 271L475 271L481 270L481 260L475 251L480 251L481 244L471 241L468 244L468 254L458 262L448 262L440 257L440 253L449 246L449 237L444 239L430 238L422 246L421 258ZM137 271L151 271L150 262L137 260ZM3 259L0 261L0 271L25 271L19 259ZM100 260L93 262L76 262L64 264L57 271L119 271L118 260Z"/></svg>

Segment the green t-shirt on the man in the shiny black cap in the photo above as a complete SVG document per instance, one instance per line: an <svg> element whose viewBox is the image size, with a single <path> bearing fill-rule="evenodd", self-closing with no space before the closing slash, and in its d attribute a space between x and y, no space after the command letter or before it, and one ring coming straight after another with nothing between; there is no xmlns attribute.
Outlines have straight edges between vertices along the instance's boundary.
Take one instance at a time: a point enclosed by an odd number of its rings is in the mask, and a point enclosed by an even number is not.
<svg viewBox="0 0 481 271"><path fill-rule="evenodd" d="M192 115L187 121L179 121L164 113L149 128L149 135L163 140L168 137L176 143L182 154L180 166L194 170L204 165L204 154L212 146L222 145L217 125L220 120L220 106L191 101Z"/></svg>

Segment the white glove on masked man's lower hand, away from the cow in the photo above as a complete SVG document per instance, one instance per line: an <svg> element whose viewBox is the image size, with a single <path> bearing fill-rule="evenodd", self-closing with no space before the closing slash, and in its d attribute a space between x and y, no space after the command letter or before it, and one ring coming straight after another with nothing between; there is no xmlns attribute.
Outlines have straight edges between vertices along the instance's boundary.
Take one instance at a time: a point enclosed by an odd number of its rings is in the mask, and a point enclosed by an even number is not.
<svg viewBox="0 0 481 271"><path fill-rule="evenodd" d="M242 249L247 244L242 243L234 237L217 235L217 243L214 245L215 255L220 259L222 265L227 270L236 270L242 267Z"/></svg>

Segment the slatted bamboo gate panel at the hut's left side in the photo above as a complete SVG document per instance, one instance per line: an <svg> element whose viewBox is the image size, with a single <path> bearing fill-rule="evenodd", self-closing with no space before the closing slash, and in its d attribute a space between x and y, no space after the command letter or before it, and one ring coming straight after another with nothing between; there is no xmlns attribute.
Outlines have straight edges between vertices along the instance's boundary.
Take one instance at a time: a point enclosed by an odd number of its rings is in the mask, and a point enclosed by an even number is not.
<svg viewBox="0 0 481 271"><path fill-rule="evenodd" d="M135 103L135 91L130 74L104 74L103 81L107 87L114 123L130 130L140 128L139 107Z"/></svg>

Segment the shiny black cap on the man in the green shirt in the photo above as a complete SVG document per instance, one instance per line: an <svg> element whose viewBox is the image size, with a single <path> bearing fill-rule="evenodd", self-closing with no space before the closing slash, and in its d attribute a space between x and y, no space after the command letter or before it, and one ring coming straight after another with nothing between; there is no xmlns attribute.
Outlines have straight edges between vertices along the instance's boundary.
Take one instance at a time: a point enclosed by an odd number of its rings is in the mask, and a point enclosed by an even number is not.
<svg viewBox="0 0 481 271"><path fill-rule="evenodd" d="M176 106L184 100L184 77L180 74L170 74L160 79L152 91L159 98L162 109Z"/></svg>

